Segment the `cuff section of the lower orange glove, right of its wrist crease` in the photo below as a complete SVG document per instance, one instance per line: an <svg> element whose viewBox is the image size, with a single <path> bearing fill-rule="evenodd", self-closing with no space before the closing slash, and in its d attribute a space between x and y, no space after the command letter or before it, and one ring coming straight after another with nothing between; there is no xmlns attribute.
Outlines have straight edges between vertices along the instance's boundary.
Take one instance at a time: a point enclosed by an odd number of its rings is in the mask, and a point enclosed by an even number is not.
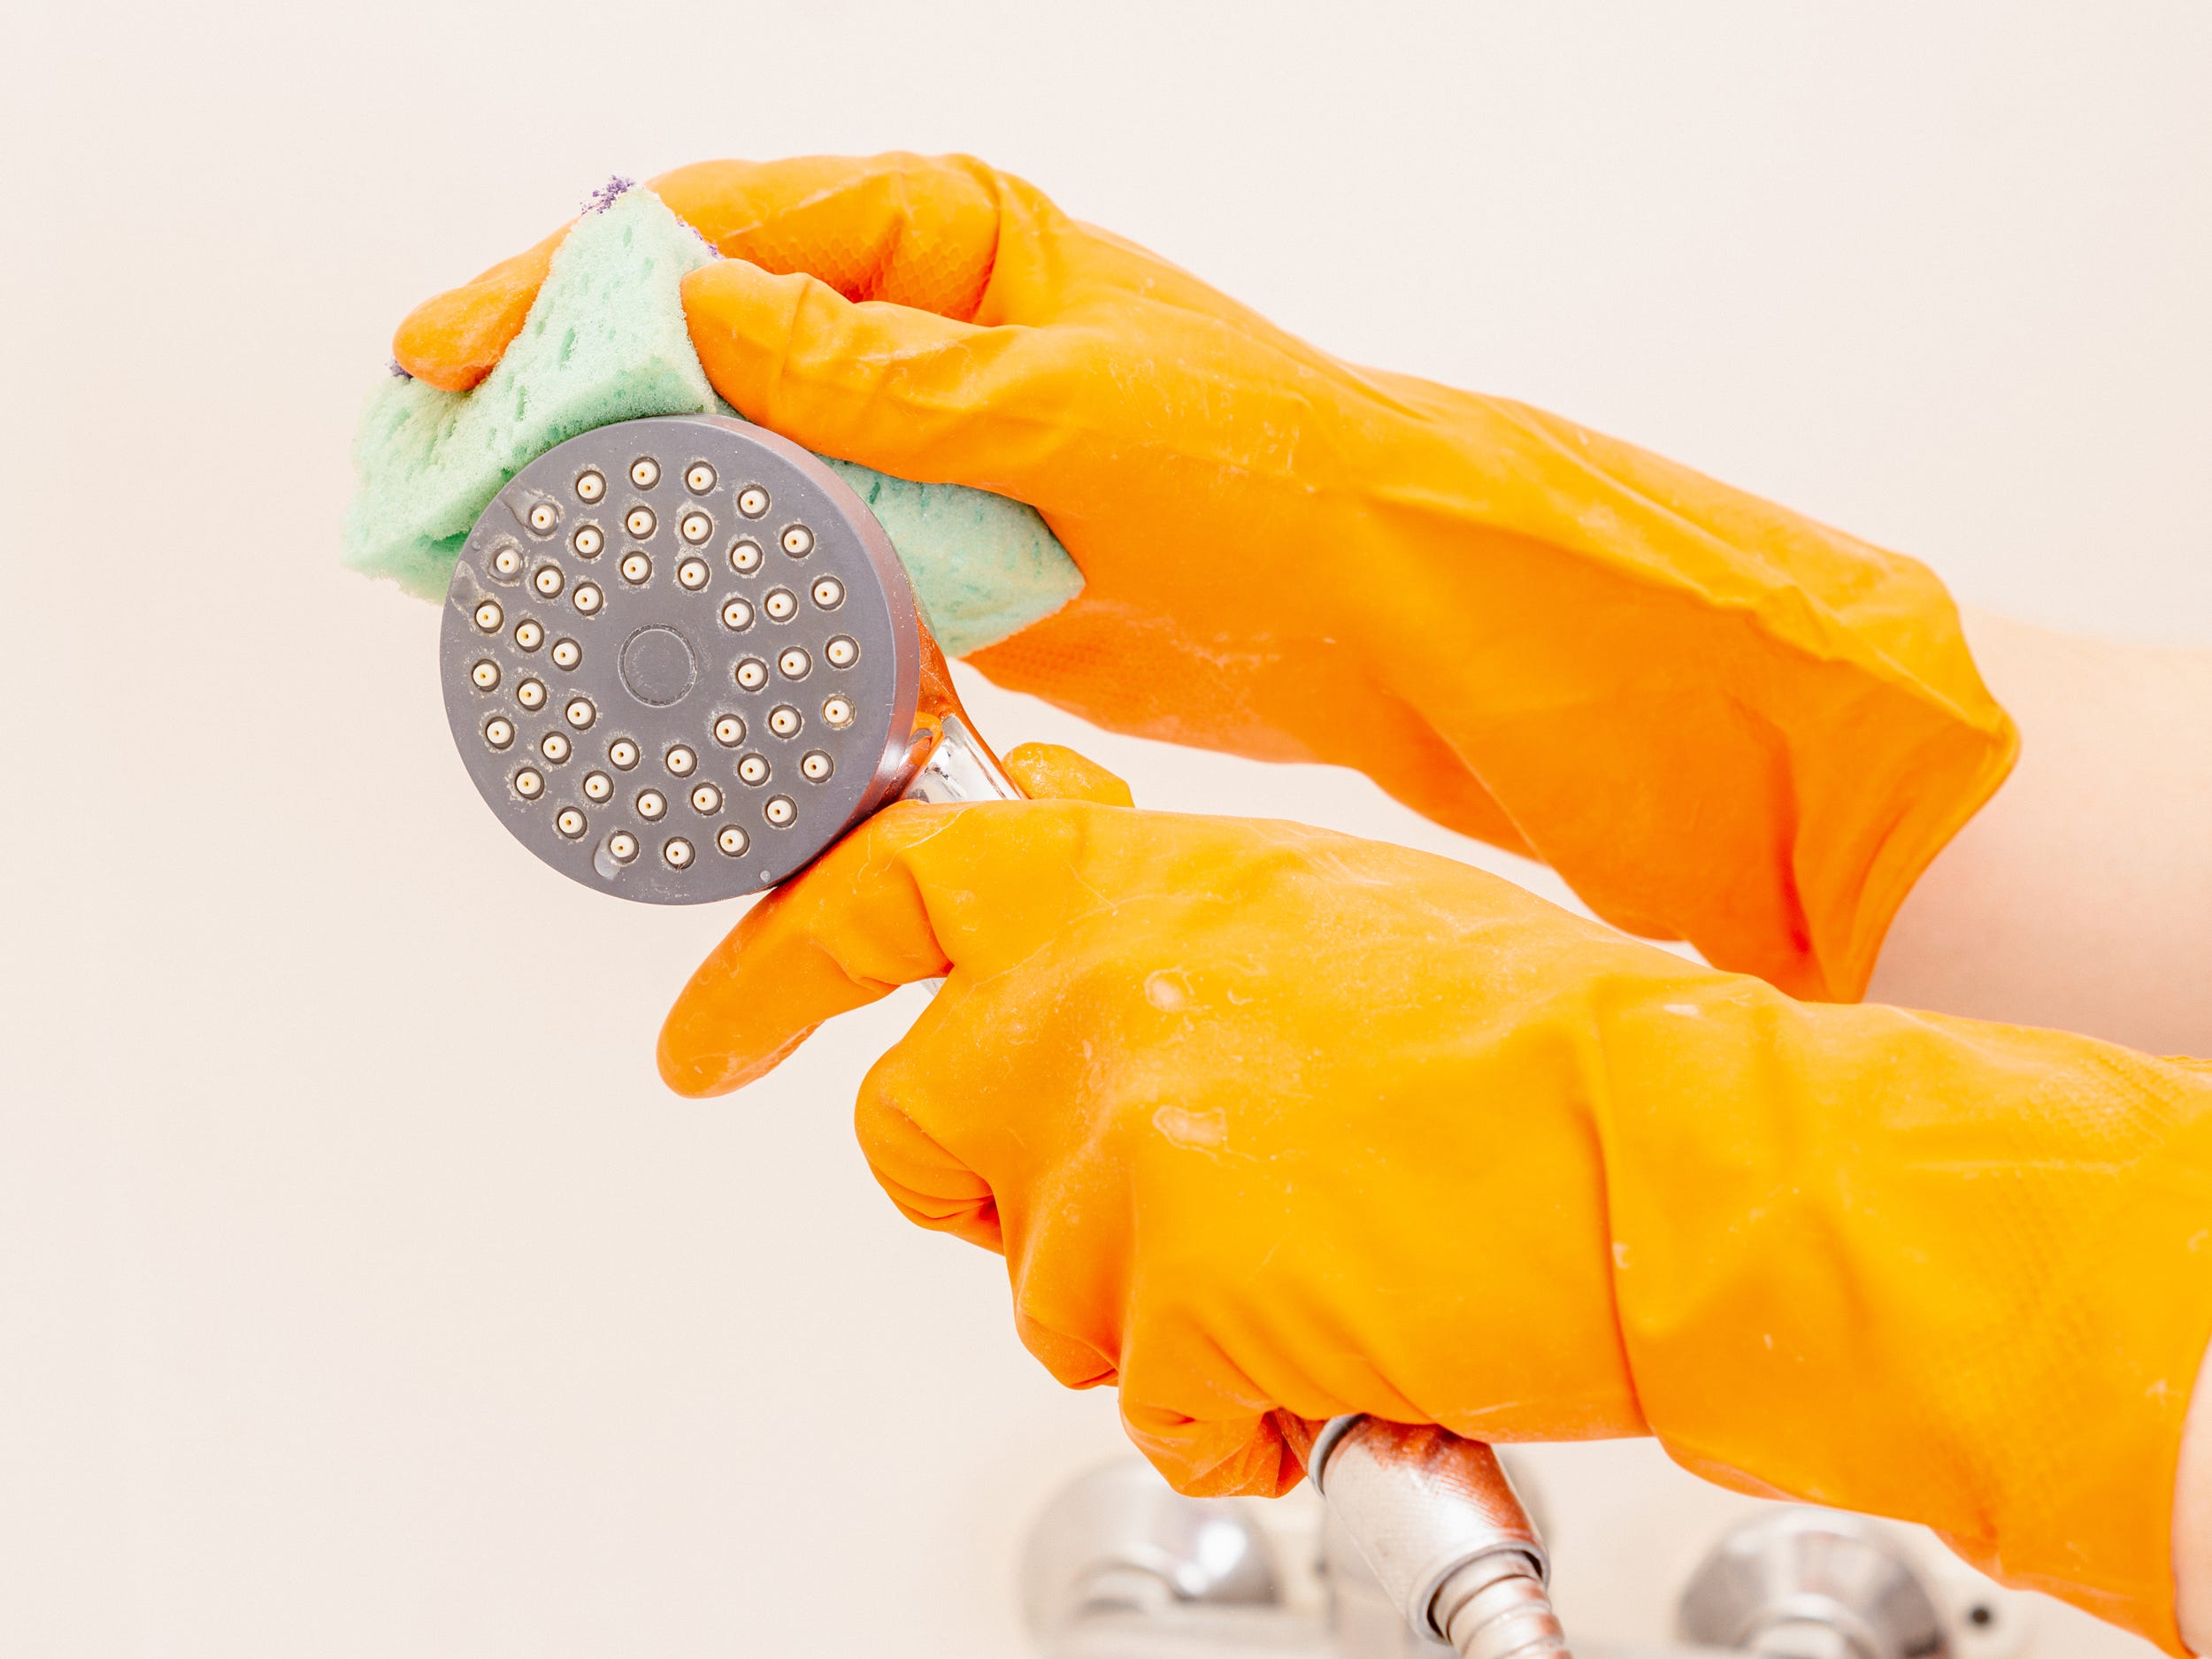
<svg viewBox="0 0 2212 1659"><path fill-rule="evenodd" d="M1617 1077L1694 1057L1705 1079L1694 1121L1630 1091L1606 1124L1630 1369L1668 1451L1927 1522L2179 1652L2212 1066L1741 980L1615 1026L1608 1055L1646 1051Z"/></svg>

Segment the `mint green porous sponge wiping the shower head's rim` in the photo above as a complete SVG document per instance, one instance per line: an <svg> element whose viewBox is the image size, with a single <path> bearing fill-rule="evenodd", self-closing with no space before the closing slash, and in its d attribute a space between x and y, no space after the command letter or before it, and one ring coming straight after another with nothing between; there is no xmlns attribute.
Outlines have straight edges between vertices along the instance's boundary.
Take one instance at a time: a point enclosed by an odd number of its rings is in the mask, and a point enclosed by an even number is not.
<svg viewBox="0 0 2212 1659"><path fill-rule="evenodd" d="M734 414L684 325L684 276L712 257L650 190L586 212L482 385L438 392L392 378L369 394L354 434L345 562L442 599L476 515L553 445L639 416ZM883 522L929 630L953 657L1026 628L1084 586L1022 502L825 460Z"/></svg>

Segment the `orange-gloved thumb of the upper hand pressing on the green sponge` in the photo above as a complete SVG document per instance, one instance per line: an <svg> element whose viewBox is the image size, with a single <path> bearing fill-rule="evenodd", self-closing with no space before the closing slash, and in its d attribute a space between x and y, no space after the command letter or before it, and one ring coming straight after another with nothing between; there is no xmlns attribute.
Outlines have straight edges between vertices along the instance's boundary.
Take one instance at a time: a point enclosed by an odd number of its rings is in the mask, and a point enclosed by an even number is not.
<svg viewBox="0 0 2212 1659"><path fill-rule="evenodd" d="M898 478L1035 500L1031 480L1093 438L1088 356L1048 327L854 303L743 259L686 276L684 314L706 378L741 416Z"/></svg>

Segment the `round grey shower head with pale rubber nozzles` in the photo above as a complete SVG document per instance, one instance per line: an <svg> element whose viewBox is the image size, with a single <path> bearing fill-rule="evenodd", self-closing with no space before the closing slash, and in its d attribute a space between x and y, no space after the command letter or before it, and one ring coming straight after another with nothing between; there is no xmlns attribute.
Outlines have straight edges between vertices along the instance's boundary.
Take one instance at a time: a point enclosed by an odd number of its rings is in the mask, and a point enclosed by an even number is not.
<svg viewBox="0 0 2212 1659"><path fill-rule="evenodd" d="M774 887L883 805L922 661L874 513L719 416L599 427L515 473L469 531L438 655L500 823L648 905Z"/></svg>

